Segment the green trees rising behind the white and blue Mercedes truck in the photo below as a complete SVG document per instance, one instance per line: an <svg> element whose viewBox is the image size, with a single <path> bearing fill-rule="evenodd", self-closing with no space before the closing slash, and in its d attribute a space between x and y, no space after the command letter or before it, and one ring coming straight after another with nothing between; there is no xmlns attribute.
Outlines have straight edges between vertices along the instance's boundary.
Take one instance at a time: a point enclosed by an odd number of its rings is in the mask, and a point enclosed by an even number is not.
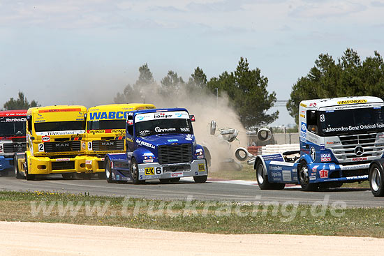
<svg viewBox="0 0 384 256"><path fill-rule="evenodd" d="M344 96L384 98L384 62L378 52L364 61L352 49L337 61L320 54L308 75L293 84L287 109L298 123L300 101Z"/></svg>

